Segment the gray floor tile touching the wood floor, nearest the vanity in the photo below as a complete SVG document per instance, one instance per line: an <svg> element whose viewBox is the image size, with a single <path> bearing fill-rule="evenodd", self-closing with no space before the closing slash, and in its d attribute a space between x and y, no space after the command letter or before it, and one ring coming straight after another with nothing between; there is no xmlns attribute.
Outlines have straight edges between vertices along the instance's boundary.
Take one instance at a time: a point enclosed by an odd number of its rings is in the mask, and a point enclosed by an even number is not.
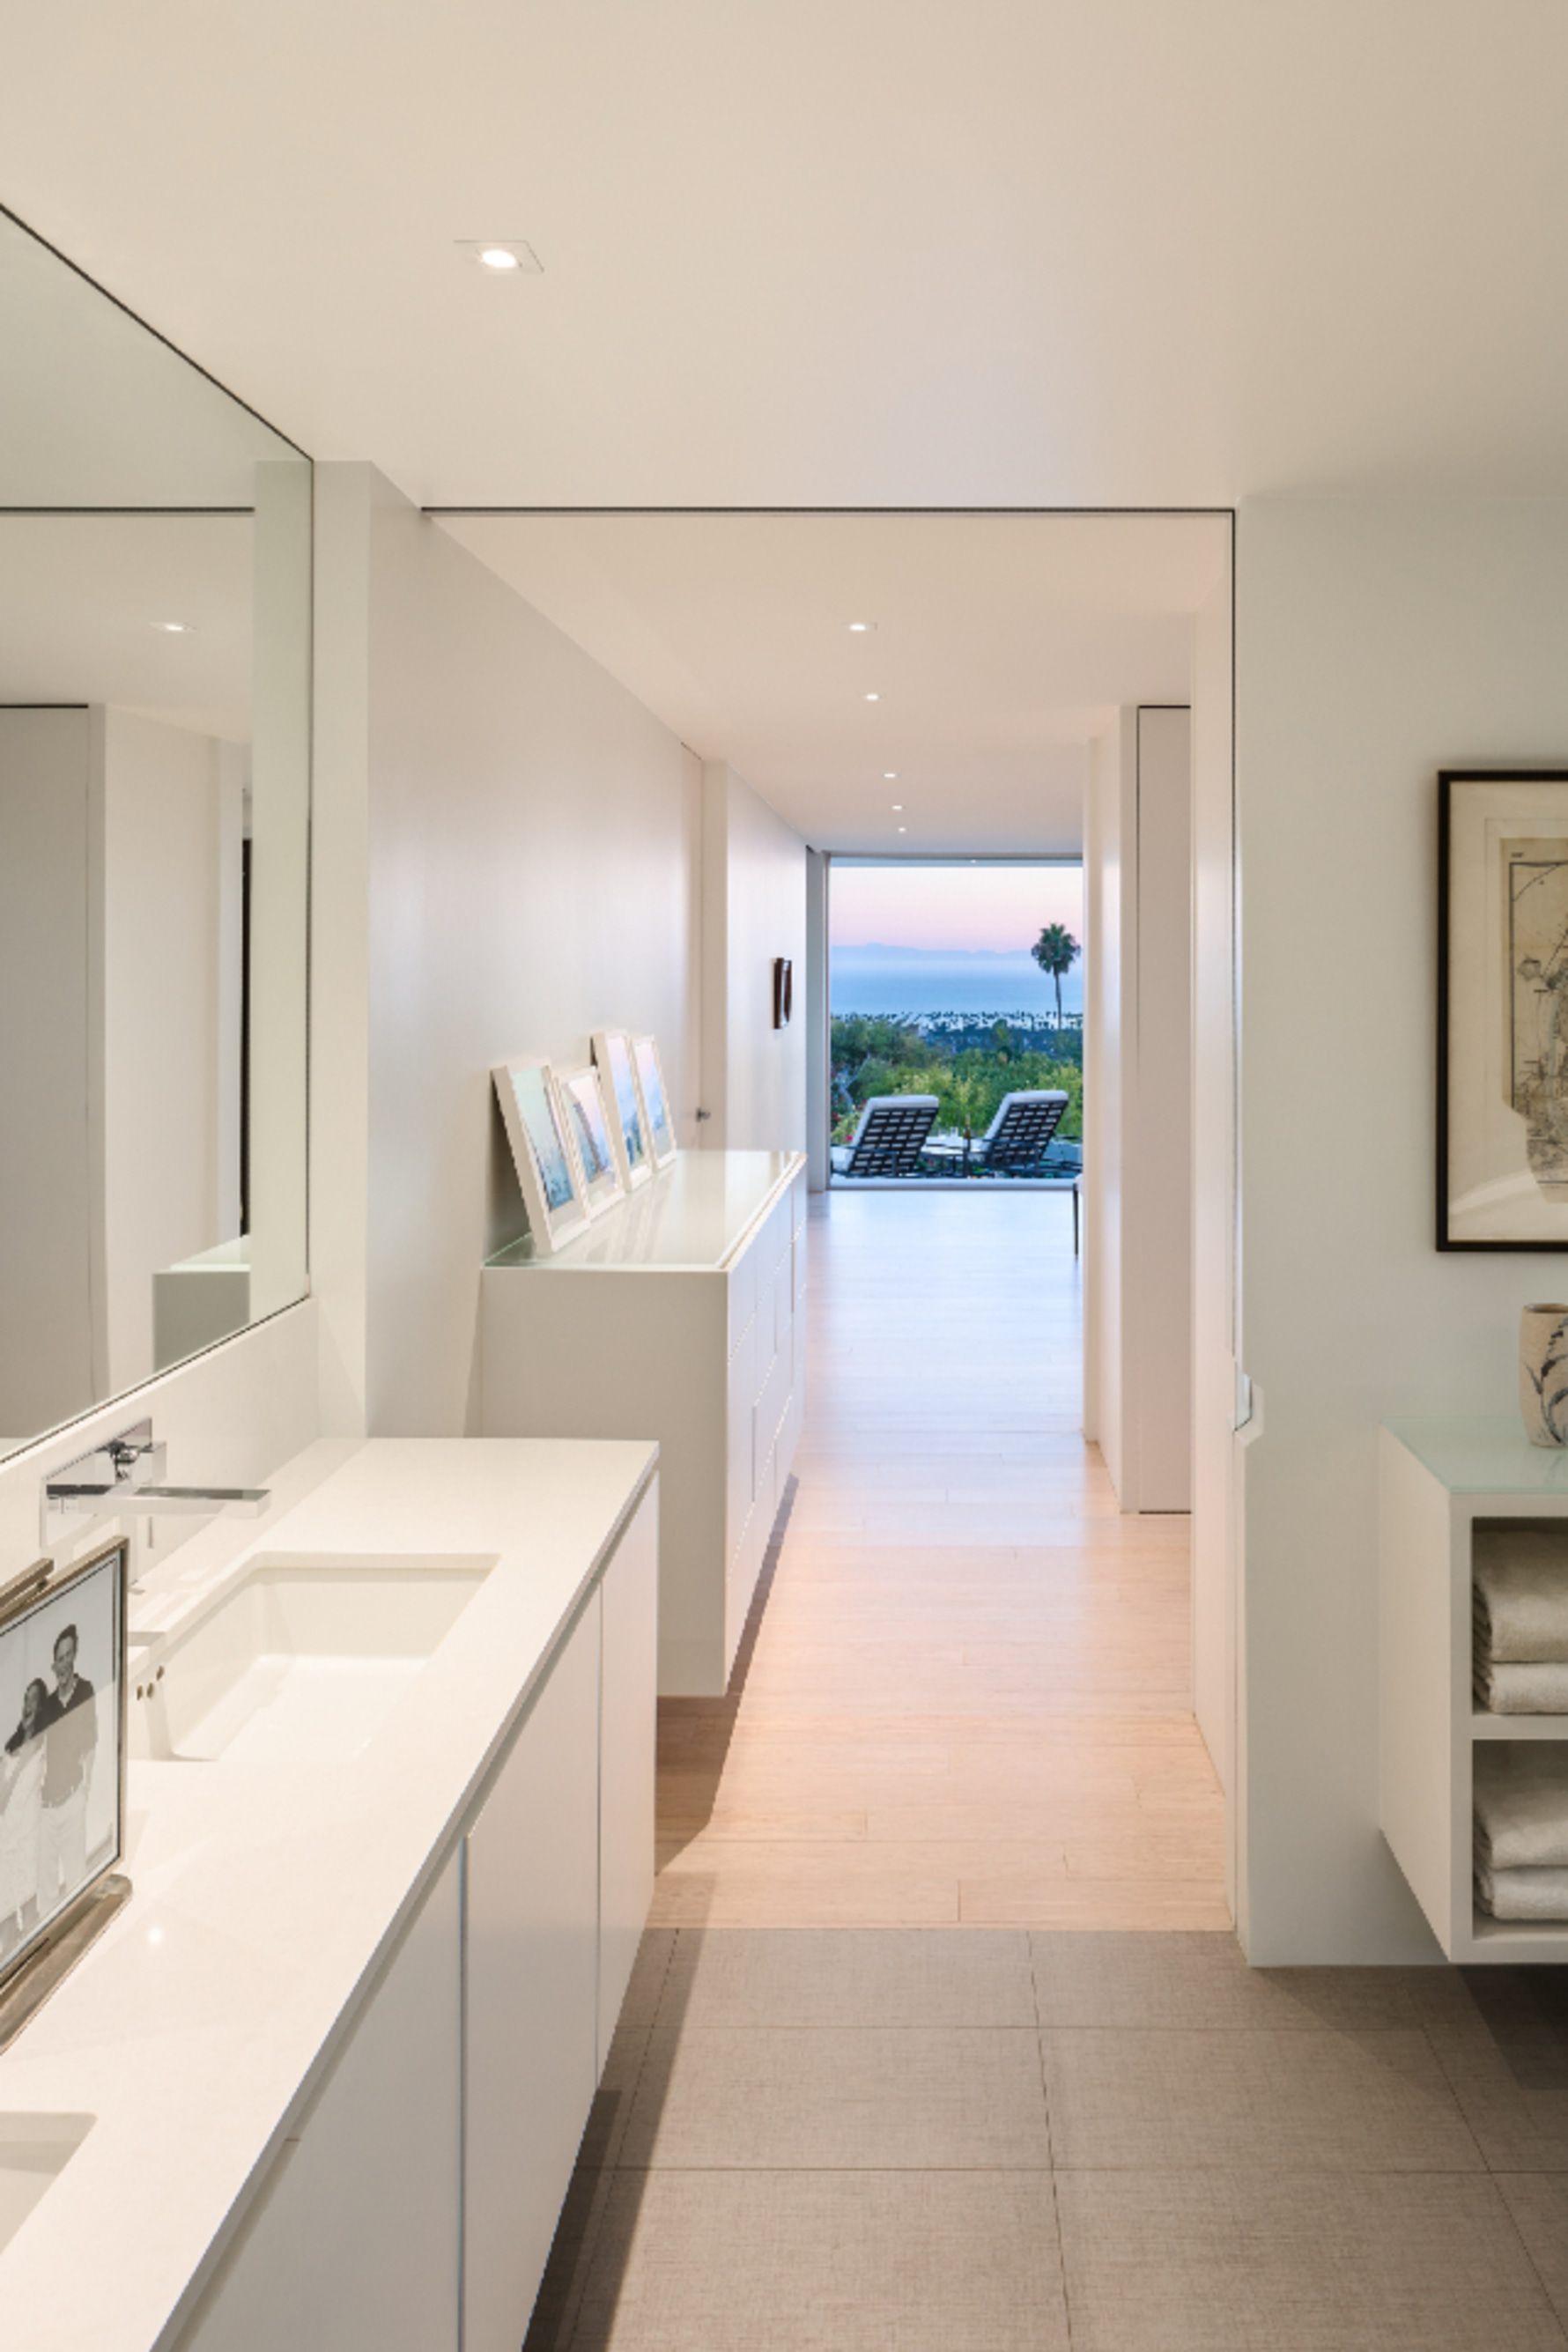
<svg viewBox="0 0 1568 2352"><path fill-rule="evenodd" d="M682 1931L661 2034L783 2027L1034 2027L1027 1936L929 1929Z"/></svg>

